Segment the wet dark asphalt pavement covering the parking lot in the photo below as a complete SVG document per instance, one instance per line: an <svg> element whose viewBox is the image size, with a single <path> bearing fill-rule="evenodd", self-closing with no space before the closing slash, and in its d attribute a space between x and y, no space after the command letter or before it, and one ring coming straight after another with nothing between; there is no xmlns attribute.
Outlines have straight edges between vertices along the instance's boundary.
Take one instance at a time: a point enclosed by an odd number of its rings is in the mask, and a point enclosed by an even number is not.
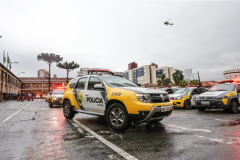
<svg viewBox="0 0 240 160"><path fill-rule="evenodd" d="M101 117L74 119L112 145L65 120L61 106L49 108L44 100L0 103L0 160L125 159L111 146L136 159L240 159L240 114L175 109L158 124L132 124L124 132L113 131Z"/></svg>

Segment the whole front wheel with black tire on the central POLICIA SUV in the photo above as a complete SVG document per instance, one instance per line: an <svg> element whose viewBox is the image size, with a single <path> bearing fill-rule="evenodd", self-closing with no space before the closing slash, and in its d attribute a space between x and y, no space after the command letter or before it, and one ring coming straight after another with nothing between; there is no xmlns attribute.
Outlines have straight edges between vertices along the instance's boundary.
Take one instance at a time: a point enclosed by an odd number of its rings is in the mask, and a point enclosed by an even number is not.
<svg viewBox="0 0 240 160"><path fill-rule="evenodd" d="M123 131L129 128L132 124L127 109L122 104L114 103L106 113L106 121L108 125L116 131Z"/></svg>

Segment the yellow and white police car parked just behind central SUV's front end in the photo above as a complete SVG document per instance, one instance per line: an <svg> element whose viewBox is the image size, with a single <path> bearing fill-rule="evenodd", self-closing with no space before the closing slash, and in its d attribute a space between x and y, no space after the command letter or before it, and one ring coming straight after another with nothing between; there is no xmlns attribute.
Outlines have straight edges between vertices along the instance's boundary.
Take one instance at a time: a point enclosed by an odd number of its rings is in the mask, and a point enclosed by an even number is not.
<svg viewBox="0 0 240 160"><path fill-rule="evenodd" d="M186 87L177 90L174 94L169 94L169 96L174 107L191 109L196 105L196 97L205 91L204 87Z"/></svg>

